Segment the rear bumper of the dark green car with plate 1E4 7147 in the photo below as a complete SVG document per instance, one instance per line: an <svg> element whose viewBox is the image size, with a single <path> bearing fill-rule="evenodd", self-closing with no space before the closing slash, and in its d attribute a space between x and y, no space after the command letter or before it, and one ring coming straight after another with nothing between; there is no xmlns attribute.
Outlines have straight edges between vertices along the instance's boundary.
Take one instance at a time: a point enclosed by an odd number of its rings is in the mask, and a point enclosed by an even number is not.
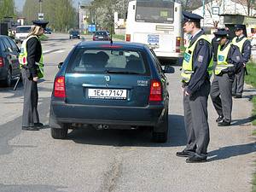
<svg viewBox="0 0 256 192"><path fill-rule="evenodd" d="M147 107L106 107L69 105L65 102L52 101L49 113L49 126L61 128L64 123L94 125L148 125L161 122L168 108L168 102Z"/></svg>

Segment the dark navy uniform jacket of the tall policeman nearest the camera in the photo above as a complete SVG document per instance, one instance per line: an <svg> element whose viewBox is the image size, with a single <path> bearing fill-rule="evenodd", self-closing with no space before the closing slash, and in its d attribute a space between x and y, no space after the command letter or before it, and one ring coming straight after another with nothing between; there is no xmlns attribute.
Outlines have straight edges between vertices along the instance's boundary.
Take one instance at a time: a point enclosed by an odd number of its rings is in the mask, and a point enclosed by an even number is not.
<svg viewBox="0 0 256 192"><path fill-rule="evenodd" d="M190 41L190 44L195 43L196 39L202 34L205 34L203 30L197 33ZM212 60L212 45L205 39L201 39L195 45L195 51L192 58L192 65L194 73L191 75L189 80L189 85L185 87L185 90L189 95L193 94L195 91L200 90L201 85L205 81L209 81L210 77L207 72L210 61Z"/></svg>

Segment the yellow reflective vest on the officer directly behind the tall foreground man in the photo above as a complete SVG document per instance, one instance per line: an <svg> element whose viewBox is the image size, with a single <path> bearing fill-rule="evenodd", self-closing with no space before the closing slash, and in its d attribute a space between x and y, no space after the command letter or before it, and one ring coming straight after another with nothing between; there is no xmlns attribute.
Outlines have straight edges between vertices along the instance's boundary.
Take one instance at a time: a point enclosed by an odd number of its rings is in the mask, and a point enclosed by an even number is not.
<svg viewBox="0 0 256 192"><path fill-rule="evenodd" d="M225 49L221 50L221 45L218 45L218 53L217 53L217 65L215 68L215 74L218 75L221 73L222 70L228 68L228 67L234 67L233 64L229 64L227 59L228 59L228 54L230 51L231 44L228 44Z"/></svg>

